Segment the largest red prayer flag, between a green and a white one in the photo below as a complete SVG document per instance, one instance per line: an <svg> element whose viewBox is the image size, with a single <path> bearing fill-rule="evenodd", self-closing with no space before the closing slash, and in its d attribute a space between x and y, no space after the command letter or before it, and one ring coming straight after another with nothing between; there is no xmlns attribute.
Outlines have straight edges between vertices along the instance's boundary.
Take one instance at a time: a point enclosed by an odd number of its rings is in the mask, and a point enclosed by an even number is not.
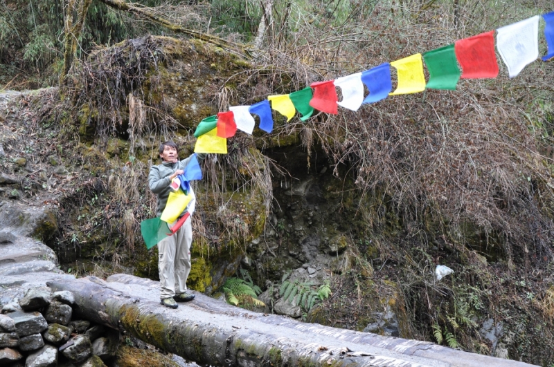
<svg viewBox="0 0 554 367"><path fill-rule="evenodd" d="M482 79L498 76L497 55L494 54L494 30L456 41L456 59L462 67L464 79Z"/></svg>

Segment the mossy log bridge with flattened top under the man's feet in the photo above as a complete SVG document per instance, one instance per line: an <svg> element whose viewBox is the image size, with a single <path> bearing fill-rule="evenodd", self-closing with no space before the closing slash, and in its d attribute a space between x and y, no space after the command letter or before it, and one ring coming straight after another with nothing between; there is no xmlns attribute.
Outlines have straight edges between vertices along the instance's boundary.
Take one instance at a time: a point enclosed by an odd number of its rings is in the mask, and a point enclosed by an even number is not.
<svg viewBox="0 0 554 367"><path fill-rule="evenodd" d="M76 312L129 332L157 348L211 366L532 366L426 341L382 337L303 323L228 305L196 292L172 310L159 304L159 283L127 274L50 281L69 290Z"/></svg>

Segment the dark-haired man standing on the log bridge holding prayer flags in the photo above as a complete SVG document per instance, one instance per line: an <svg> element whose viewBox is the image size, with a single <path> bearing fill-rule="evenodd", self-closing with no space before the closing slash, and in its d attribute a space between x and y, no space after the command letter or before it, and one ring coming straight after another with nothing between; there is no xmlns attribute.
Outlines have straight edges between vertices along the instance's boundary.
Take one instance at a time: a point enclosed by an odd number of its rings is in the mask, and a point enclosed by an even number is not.
<svg viewBox="0 0 554 367"><path fill-rule="evenodd" d="M168 141L163 142L159 148L161 164L152 166L148 175L148 184L150 190L158 196L158 216L161 216L163 209L166 209L168 196L172 191L170 185L172 180L184 173L184 169L192 156L179 160L177 144ZM202 162L206 154L197 154L197 160ZM186 211L193 213L196 205L196 197L192 187L190 194L193 196ZM179 216L179 218L181 218ZM175 223L168 223L172 227ZM193 227L190 217L186 220L172 236L163 238L158 243L158 268L160 276L160 303L169 308L177 308L179 305L175 301L192 301L195 296L186 292L186 279L190 273L190 245L193 242Z"/></svg>

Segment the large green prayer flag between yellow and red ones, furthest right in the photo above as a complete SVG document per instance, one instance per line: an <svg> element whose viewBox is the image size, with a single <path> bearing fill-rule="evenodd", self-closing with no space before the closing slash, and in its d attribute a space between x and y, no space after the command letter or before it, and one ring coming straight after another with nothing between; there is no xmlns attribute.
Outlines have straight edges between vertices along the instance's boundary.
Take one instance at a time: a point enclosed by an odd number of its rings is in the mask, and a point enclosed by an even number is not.
<svg viewBox="0 0 554 367"><path fill-rule="evenodd" d="M423 59L429 70L429 82L425 88L456 89L461 73L454 44L424 53Z"/></svg>

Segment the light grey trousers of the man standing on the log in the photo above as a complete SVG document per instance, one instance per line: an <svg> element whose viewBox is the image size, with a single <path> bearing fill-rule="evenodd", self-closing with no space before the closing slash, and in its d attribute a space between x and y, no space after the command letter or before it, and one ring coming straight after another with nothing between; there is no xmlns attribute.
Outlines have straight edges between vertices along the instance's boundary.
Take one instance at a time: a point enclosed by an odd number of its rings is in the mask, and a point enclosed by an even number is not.
<svg viewBox="0 0 554 367"><path fill-rule="evenodd" d="M186 291L186 279L190 273L191 243L193 243L193 227L190 218L173 236L163 238L158 243L160 299L171 298L175 294Z"/></svg>

